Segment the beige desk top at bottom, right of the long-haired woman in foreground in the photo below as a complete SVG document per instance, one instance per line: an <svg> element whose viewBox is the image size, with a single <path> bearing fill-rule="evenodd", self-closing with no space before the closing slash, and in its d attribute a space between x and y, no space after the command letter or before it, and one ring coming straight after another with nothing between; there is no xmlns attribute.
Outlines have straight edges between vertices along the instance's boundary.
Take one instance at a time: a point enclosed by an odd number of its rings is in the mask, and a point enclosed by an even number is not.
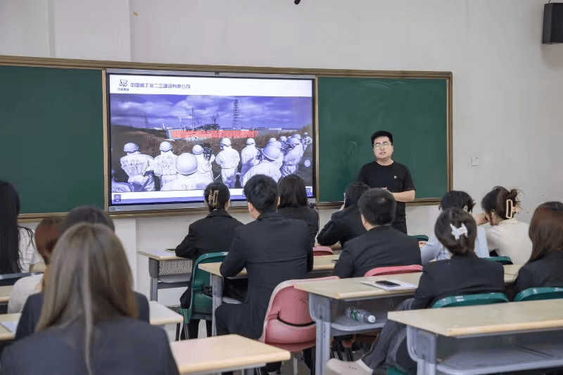
<svg viewBox="0 0 563 375"><path fill-rule="evenodd" d="M180 374L220 372L255 364L289 360L287 350L238 335L198 338L171 343Z"/></svg>

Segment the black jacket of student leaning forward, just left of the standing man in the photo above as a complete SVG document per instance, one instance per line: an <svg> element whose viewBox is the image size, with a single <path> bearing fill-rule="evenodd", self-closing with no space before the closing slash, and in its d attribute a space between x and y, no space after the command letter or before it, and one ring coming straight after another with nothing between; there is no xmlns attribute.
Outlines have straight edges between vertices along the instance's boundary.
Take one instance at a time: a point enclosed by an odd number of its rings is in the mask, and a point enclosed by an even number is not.
<svg viewBox="0 0 563 375"><path fill-rule="evenodd" d="M351 205L332 214L330 221L317 236L317 242L322 246L331 246L340 241L341 246L344 247L346 241L355 239L365 232L362 217L360 217L360 208L358 205Z"/></svg>

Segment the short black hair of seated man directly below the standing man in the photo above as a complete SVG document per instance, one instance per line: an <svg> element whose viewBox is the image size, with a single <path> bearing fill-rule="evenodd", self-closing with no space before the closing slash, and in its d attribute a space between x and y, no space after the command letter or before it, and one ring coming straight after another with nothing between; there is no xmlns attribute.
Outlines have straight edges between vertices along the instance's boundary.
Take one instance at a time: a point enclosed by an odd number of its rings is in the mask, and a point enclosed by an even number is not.
<svg viewBox="0 0 563 375"><path fill-rule="evenodd" d="M395 220L397 201L385 189L369 189L358 201L360 213L372 225L390 225Z"/></svg>

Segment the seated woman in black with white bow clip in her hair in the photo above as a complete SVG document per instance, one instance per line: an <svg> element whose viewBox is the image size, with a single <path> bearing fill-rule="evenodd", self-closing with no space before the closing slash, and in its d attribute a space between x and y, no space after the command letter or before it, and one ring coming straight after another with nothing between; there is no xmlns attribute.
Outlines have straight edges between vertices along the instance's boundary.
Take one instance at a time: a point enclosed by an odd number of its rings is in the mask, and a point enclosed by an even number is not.
<svg viewBox="0 0 563 375"><path fill-rule="evenodd" d="M460 208L444 210L436 220L434 233L452 258L426 265L415 298L403 301L397 310L425 309L452 295L504 293L502 265L477 258L473 252L477 226L469 213ZM386 322L372 350L361 360L329 360L325 374L386 374L384 369L392 366L416 374L417 364L408 355L405 331L404 324Z"/></svg>

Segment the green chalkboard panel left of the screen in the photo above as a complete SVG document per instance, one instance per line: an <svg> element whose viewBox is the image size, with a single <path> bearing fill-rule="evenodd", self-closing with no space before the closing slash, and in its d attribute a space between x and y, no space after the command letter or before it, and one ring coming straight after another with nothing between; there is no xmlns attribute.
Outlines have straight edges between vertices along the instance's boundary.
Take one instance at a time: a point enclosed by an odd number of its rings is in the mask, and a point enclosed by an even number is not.
<svg viewBox="0 0 563 375"><path fill-rule="evenodd" d="M0 66L0 139L23 214L104 207L101 69Z"/></svg>

